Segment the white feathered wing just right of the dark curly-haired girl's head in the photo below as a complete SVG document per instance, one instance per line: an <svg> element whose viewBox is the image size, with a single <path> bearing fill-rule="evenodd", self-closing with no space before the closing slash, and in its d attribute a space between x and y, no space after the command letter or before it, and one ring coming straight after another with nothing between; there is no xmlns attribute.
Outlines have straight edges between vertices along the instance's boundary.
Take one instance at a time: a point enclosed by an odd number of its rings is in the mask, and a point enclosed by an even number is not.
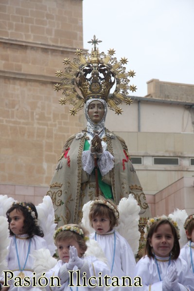
<svg viewBox="0 0 194 291"><path fill-rule="evenodd" d="M54 223L54 208L51 197L44 196L43 202L36 206L36 210L38 213L38 222L40 229L42 229L44 233L44 240L46 240L48 244L48 249L53 256L56 250L53 235L57 224Z"/></svg>

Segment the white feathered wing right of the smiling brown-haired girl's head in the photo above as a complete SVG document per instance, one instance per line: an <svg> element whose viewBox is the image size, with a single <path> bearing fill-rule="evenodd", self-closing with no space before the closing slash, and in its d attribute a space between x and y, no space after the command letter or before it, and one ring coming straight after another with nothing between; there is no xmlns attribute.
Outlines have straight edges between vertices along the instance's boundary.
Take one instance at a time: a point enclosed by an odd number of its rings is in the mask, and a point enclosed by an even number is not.
<svg viewBox="0 0 194 291"><path fill-rule="evenodd" d="M168 217L172 218L178 224L178 227L180 229L179 244L180 244L180 248L182 248L187 243L187 236L184 229L184 223L185 223L186 218L188 217L188 214L185 211L185 209L180 210L176 208L175 211L169 214Z"/></svg>

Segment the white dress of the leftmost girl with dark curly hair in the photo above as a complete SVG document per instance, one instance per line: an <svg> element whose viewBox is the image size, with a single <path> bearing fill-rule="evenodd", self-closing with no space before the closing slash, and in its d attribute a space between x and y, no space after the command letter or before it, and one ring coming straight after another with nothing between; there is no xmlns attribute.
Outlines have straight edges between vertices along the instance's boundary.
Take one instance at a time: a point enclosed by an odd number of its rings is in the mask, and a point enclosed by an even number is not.
<svg viewBox="0 0 194 291"><path fill-rule="evenodd" d="M26 257L28 254L29 243L30 243L30 240L26 239L27 237L28 235L25 235L25 234L16 237L16 243L17 243L17 249L18 249L18 257L17 257L15 238L14 236L10 236L9 254L7 257L7 261L8 261L7 270L12 271L14 273L14 277L18 276L18 274L20 273L19 265L18 265L18 258L19 258L20 268L23 269L23 266L25 265ZM25 276L29 276L29 277L34 276L33 275L34 271L32 270L34 259L30 256L30 254L32 253L33 250L38 250L41 248L47 249L47 242L43 238L35 235L31 239L30 252L26 261L24 271L23 271ZM10 274L8 274L8 276L10 276ZM1 275L0 279L4 280L4 274ZM10 285L9 291L20 291L21 289L22 291L40 290L38 287L32 287L32 284L29 287L15 287L13 285L14 283L15 283L14 278L8 281L8 284Z"/></svg>

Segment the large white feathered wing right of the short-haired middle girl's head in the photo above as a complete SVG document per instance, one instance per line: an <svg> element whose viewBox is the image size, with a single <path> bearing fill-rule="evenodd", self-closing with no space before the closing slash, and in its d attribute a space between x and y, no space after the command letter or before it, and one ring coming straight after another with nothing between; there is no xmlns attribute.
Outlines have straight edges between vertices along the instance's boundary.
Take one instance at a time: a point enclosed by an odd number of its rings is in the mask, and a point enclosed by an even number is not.
<svg viewBox="0 0 194 291"><path fill-rule="evenodd" d="M122 198L118 205L120 224L115 229L128 241L134 255L138 252L140 231L139 212L140 206L132 194L128 198Z"/></svg>

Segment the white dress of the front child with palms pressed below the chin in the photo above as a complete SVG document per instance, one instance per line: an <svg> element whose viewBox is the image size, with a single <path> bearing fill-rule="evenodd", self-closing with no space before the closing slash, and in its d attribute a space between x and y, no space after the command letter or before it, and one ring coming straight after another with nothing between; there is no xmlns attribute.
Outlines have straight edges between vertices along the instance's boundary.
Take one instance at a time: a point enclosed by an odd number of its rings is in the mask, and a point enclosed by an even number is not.
<svg viewBox="0 0 194 291"><path fill-rule="evenodd" d="M59 260L56 265L49 271L46 273L46 277L50 280L51 276L57 276L60 278L60 285L61 287L51 287L49 285L46 286L46 290L48 291L87 291L87 290L105 290L105 287L99 287L98 285L98 279L94 280L91 279L91 284L97 284L97 286L94 287L90 287L88 285L88 278L91 276L95 276L96 278L98 278L99 276L102 277L102 285L104 285L104 276L109 275L110 276L110 272L108 269L108 266L106 265L106 263L99 261L96 257L92 257L92 256L88 256L88 257L82 257L82 259L84 260L84 265L83 267L80 269L80 276L78 277L78 270L77 267L75 266L73 268L72 271L74 271L73 273L69 274L68 270L67 270L67 263L63 263L62 260ZM76 272L77 271L77 272ZM86 272L85 276L83 274L83 272ZM99 275L99 272L101 272L102 274ZM82 277L86 277L86 285L87 287L83 287L83 278ZM74 287L69 287L69 285L75 285ZM54 279L53 281L53 285L58 284L58 281ZM76 285L81 285L81 286L76 286Z"/></svg>

